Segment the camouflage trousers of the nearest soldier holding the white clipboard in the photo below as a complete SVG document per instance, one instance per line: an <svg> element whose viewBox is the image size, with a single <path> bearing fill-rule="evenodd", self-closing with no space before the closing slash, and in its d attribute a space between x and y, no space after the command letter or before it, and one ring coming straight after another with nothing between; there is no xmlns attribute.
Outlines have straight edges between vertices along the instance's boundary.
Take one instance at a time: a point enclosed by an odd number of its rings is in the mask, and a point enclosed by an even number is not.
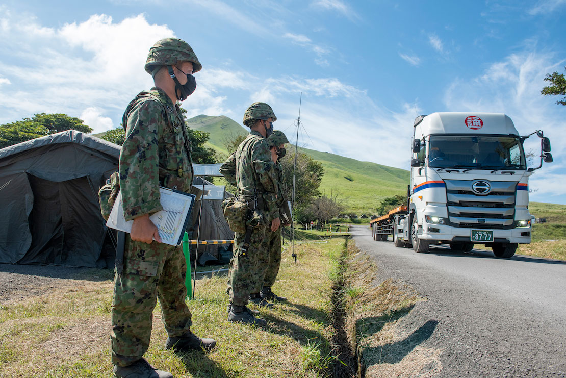
<svg viewBox="0 0 566 378"><path fill-rule="evenodd" d="M112 300L112 363L127 366L149 347L156 300L170 337L191 326L185 299L187 264L181 247L126 238L123 273L114 277Z"/></svg>

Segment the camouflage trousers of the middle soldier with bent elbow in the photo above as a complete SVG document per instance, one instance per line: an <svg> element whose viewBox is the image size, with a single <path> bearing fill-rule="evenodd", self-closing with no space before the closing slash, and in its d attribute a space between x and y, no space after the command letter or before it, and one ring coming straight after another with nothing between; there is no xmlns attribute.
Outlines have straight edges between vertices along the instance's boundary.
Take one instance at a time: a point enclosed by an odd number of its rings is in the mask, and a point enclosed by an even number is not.
<svg viewBox="0 0 566 378"><path fill-rule="evenodd" d="M269 262L265 251L265 226L255 227L250 238L247 256L242 256L245 233L234 233L234 256L228 270L228 289L230 303L243 306L248 303L250 293L263 282ZM259 292L259 290L258 290Z"/></svg>

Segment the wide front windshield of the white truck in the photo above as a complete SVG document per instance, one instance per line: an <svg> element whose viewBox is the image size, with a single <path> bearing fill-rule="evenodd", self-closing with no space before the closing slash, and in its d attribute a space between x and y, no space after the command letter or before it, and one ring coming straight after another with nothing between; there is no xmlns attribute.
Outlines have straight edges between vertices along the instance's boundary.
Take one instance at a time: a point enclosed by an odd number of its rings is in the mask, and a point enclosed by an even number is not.
<svg viewBox="0 0 566 378"><path fill-rule="evenodd" d="M525 153L516 136L432 135L428 166L525 170Z"/></svg>

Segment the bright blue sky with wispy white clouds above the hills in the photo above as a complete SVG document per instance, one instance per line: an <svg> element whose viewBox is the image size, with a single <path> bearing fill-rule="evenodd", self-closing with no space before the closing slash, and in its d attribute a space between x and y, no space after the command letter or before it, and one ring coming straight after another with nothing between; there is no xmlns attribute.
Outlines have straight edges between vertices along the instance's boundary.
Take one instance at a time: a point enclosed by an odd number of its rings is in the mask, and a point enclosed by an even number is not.
<svg viewBox="0 0 566 378"><path fill-rule="evenodd" d="M175 36L203 64L191 117L241 122L266 101L291 133L302 92L299 145L408 169L417 114L506 113L552 141L531 200L566 204L566 107L539 94L544 75L565 72L565 19L566 0L7 0L0 123L46 112L118 127L151 87L149 47Z"/></svg>

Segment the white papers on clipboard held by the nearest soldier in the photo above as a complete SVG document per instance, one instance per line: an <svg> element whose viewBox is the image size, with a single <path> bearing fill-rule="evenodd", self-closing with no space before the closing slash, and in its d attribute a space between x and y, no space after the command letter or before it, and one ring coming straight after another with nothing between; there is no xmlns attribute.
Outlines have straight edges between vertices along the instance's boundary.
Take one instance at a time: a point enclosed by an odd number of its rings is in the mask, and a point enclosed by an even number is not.
<svg viewBox="0 0 566 378"><path fill-rule="evenodd" d="M179 246L191 214L195 195L160 187L162 211L149 216L149 219L159 230L162 243ZM118 192L112 212L106 222L106 227L130 233L134 221L126 221L122 208L122 192Z"/></svg>

